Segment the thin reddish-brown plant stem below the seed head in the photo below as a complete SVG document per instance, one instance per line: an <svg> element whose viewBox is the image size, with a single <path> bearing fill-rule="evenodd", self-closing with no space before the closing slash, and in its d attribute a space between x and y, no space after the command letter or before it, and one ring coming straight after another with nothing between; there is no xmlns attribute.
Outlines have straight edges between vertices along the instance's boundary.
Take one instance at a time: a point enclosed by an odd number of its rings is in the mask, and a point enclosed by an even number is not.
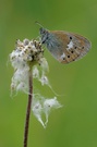
<svg viewBox="0 0 97 147"><path fill-rule="evenodd" d="M33 76L32 76L32 68L28 73L28 84L29 84L29 93L28 93L28 103L26 110L26 120L25 120L25 130L24 130L24 147L27 147L28 140L28 127L29 127L29 115L32 109L32 100L33 100Z"/></svg>

